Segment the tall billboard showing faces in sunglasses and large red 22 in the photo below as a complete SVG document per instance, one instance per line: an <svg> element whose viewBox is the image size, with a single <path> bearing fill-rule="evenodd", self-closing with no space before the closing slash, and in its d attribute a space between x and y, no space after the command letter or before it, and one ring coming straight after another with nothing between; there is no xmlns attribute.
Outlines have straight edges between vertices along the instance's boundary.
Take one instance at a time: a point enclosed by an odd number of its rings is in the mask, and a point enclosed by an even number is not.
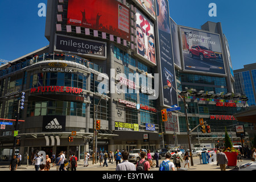
<svg viewBox="0 0 256 182"><path fill-rule="evenodd" d="M136 18L137 54L135 55L148 64L156 65L154 24L138 10Z"/></svg>

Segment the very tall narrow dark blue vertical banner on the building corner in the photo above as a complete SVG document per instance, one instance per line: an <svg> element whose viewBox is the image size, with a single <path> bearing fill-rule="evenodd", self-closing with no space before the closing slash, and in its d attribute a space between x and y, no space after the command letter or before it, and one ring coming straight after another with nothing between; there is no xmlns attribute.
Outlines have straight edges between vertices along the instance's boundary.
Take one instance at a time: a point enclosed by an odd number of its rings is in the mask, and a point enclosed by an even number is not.
<svg viewBox="0 0 256 182"><path fill-rule="evenodd" d="M157 0L156 12L159 39L159 59L157 60L158 65L160 65L158 72L162 78L162 80L160 80L160 85L162 86L162 88L160 86L160 105L169 107L178 104L168 1Z"/></svg>

